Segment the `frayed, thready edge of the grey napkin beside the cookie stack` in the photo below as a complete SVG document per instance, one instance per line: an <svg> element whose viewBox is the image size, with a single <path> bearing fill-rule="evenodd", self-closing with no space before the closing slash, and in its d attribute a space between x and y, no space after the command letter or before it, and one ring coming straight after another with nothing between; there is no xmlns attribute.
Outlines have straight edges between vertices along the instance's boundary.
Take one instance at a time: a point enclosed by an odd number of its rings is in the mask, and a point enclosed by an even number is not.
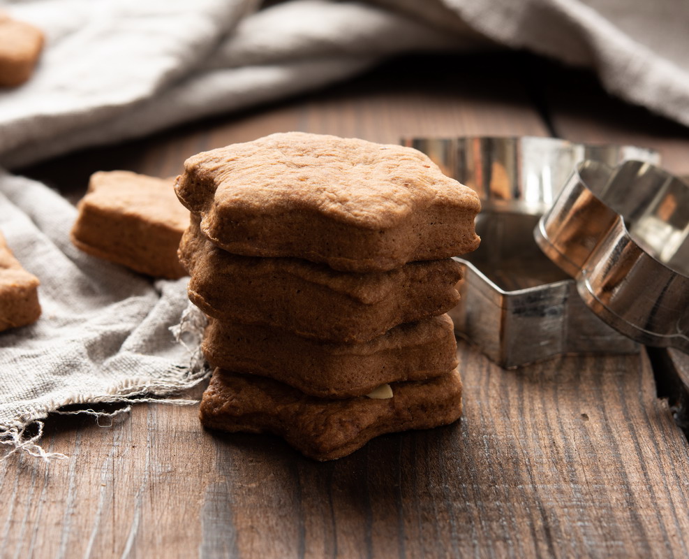
<svg viewBox="0 0 689 559"><path fill-rule="evenodd" d="M126 382L115 386L112 389L112 393L90 395L82 398L84 404L88 403L91 405L126 404L120 409L105 412L98 411L92 407L61 410L57 408L50 409L50 407L46 406L43 409L31 409L30 412L22 415L12 423L0 424L0 444L6 444L10 447L9 451L0 456L0 461L6 460L9 456L20 451L36 458L42 458L47 463L50 463L51 460L67 459L68 456L65 454L47 452L38 444L38 441L43 437L43 429L45 427L45 423L42 420L49 414L87 414L96 418L98 426L105 427L112 426L112 419L115 417L131 412L131 405L137 403L150 402L178 406L198 404L198 400L185 400L181 398L171 400L167 396L191 389L209 377L210 370L200 349L200 340L206 324L205 314L190 303L181 314L179 324L169 328L172 336L175 338L175 342L181 344L186 349L189 358L188 365L176 365L167 374L155 380L142 379L141 382ZM146 396L147 394L149 396ZM154 394L154 396L150 396L150 394ZM68 403L78 404L82 402ZM110 419L110 423L101 425L100 419L103 418ZM27 435L27 429L31 426L36 426L36 433L34 435Z"/></svg>

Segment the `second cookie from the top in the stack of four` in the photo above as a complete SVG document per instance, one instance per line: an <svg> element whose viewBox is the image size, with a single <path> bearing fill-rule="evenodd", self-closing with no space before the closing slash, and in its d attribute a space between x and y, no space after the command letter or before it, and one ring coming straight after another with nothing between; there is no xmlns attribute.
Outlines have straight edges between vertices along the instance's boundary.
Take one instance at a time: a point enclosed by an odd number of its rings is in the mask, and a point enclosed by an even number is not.
<svg viewBox="0 0 689 559"><path fill-rule="evenodd" d="M366 342L459 301L461 265L452 259L357 274L301 259L237 256L203 237L194 215L179 259L191 275L189 298L206 314L319 340Z"/></svg>

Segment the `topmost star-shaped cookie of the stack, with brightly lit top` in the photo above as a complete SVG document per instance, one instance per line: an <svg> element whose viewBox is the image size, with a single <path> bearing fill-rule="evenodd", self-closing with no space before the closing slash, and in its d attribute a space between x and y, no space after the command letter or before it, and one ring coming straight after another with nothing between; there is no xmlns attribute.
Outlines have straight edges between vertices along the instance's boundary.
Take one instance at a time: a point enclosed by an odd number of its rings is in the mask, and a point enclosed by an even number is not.
<svg viewBox="0 0 689 559"><path fill-rule="evenodd" d="M301 132L190 157L177 196L246 256L373 272L474 250L477 195L410 147Z"/></svg>

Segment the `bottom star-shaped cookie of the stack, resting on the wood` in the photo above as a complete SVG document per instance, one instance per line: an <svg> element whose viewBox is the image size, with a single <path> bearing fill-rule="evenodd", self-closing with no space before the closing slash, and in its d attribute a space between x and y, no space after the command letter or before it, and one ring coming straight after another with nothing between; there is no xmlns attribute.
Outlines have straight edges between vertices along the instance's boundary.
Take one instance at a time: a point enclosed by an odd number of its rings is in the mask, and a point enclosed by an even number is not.
<svg viewBox="0 0 689 559"><path fill-rule="evenodd" d="M342 458L378 435L447 425L461 416L455 369L427 381L391 385L392 398L326 400L286 384L216 369L200 419L224 431L274 433L316 460Z"/></svg>

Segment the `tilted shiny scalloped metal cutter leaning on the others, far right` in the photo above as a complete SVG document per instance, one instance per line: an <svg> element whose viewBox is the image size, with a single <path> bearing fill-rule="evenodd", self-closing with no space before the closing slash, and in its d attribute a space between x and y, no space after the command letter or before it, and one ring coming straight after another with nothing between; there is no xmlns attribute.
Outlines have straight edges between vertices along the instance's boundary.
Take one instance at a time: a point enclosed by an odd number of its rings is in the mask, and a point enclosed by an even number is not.
<svg viewBox="0 0 689 559"><path fill-rule="evenodd" d="M535 238L607 324L689 352L688 184L643 161L584 161Z"/></svg>

